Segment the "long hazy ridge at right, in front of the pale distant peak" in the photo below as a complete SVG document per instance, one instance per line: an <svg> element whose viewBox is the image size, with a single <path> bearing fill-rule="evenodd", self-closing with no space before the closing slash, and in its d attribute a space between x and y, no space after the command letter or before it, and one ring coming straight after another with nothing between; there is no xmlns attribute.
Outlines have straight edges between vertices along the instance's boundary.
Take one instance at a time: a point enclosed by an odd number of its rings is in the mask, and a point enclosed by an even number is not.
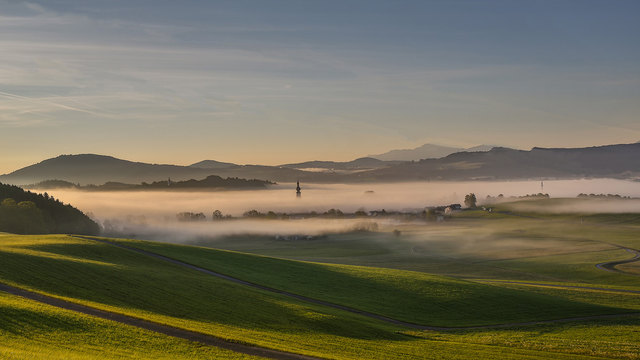
<svg viewBox="0 0 640 360"><path fill-rule="evenodd" d="M354 174L360 181L640 178L640 144L588 148L495 147Z"/></svg>

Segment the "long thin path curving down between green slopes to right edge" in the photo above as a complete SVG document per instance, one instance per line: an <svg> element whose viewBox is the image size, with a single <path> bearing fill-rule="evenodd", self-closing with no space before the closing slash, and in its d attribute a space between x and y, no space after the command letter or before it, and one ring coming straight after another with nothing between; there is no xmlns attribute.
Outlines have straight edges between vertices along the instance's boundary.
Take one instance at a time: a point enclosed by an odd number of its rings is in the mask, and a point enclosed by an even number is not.
<svg viewBox="0 0 640 360"><path fill-rule="evenodd" d="M366 317L369 317L369 318L372 318L372 319L381 320L381 321L384 321L384 322L387 322L387 323L390 323L390 324L400 325L400 326L404 326L404 327L410 327L410 328L419 329L419 330L447 331L447 330L492 329L492 328L517 327L517 326L537 325L537 324L551 324L551 323L561 323L561 322L570 322L570 321L581 321L581 320L592 320L592 319L602 319L602 318L613 318L613 317L621 317L621 316L638 315L638 313L613 314L613 315L593 315L593 316L572 317L572 318L555 319L555 320L513 322L513 323L505 323L505 324L480 325L480 326L444 327L444 326L419 325L419 324L414 324L414 323L401 321L401 320L397 320L397 319L392 319L392 318L389 318L389 317L386 317L386 316L370 313L368 311L363 311L363 310L351 308L351 307L344 306L344 305L334 304L334 303L331 303L331 302L328 302L328 301L314 299L314 298L310 298L310 297L307 297L307 296L294 294L294 293L291 293L291 292L288 292L288 291L275 289L275 288L271 288L271 287L268 287L268 286L264 286L264 285L252 283L252 282L249 282L249 281L241 280L241 279L238 279L238 278L234 278L232 276L228 276L228 275L221 274L221 273L218 273L218 272L215 272L215 271L204 269L204 268L201 268L199 266L195 266L195 265L192 265L192 264L189 264L189 263L182 262L180 260L176 260L176 259L164 256L164 255L156 254L154 252L147 251L147 250L142 250L142 249L135 248L135 247L132 247L132 246L127 246L127 245L115 243L115 242L112 242L112 241L103 240L103 239L97 239L97 238L88 237L88 236L74 236L74 237L85 239L85 240L97 241L97 242L105 243L105 244L108 244L108 245L116 246L116 247L119 247L119 248L127 249L127 250L130 250L130 251L134 251L134 252L137 252L137 253L140 253L140 254L143 254L143 255L154 257L156 259L160 259L160 260L163 260L163 261L170 262L172 264L180 265L180 266L187 267L187 268L190 268L190 269L193 269L193 270L196 270L196 271L199 271L199 272L211 275L211 276L215 276L215 277L218 277L218 278L221 278L221 279L225 279L225 280L234 282L236 284L250 286L250 287L253 287L253 288L256 288L256 289L260 289L260 290L264 290L264 291L269 291L269 292L281 294L281 295L284 295L284 296L287 296L287 297L291 297L291 298L294 298L294 299L298 299L298 300L302 300L302 301L305 301L305 302L318 304L318 305L323 305L323 306L331 307L331 308L334 308L334 309L339 309L339 310L347 311L347 312L350 312L350 313L366 316ZM619 290L619 291L624 291L624 290ZM629 290L629 291L633 292L632 290Z"/></svg>

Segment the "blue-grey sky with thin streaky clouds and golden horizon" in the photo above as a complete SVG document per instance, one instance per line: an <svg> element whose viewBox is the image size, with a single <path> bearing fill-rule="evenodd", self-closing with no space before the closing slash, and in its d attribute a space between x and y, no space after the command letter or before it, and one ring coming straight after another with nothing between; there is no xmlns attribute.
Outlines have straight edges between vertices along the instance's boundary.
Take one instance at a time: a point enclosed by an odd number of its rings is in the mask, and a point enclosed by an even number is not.
<svg viewBox="0 0 640 360"><path fill-rule="evenodd" d="M0 0L0 174L640 141L640 2Z"/></svg>

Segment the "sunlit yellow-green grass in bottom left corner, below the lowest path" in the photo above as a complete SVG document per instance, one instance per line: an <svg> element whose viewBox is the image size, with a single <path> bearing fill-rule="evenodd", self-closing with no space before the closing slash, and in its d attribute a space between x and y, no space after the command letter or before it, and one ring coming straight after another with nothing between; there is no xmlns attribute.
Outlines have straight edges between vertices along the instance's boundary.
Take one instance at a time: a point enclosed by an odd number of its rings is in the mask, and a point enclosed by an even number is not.
<svg viewBox="0 0 640 360"><path fill-rule="evenodd" d="M0 292L0 358L259 359Z"/></svg>

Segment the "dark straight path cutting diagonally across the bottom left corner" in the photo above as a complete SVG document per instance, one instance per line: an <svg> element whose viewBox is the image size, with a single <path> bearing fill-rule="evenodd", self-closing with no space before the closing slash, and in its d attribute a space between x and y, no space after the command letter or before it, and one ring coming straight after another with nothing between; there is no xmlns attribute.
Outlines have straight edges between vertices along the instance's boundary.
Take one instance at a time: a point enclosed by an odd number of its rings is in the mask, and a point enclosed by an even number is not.
<svg viewBox="0 0 640 360"><path fill-rule="evenodd" d="M203 343L206 345L213 345L215 347L219 347L222 349L227 349L243 354L262 356L269 359L280 359L280 360L319 360L320 358L289 353L285 351L278 351L267 349L254 345L246 345L231 342L229 340L225 340L213 335L207 335L195 331L185 330L169 325L159 324L152 321L138 319L132 316L127 316L111 311L99 310L96 308L92 308L85 305L76 304L70 301L65 301L61 299L57 299L51 296L39 294L33 291L20 289L14 286L9 286L6 284L0 283L0 291L7 292L9 294L21 296L27 299L35 300L44 304L52 305L55 307L59 307L66 310L71 310L79 313L83 313L86 315L96 316L102 319L107 319L111 321L116 321L121 324L131 325L138 328L150 330L153 332L187 339L190 341L196 341L199 343Z"/></svg>

